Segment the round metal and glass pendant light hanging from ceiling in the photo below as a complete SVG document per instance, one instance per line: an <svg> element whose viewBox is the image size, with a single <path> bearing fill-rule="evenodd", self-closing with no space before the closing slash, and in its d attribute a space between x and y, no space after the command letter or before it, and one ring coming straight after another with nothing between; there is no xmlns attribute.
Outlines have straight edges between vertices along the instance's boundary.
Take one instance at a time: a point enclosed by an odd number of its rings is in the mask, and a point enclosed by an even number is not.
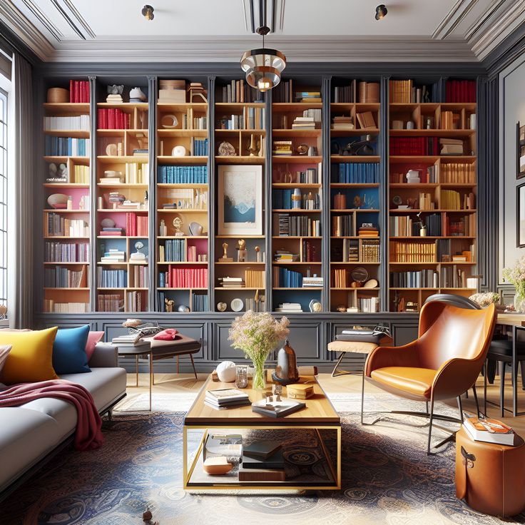
<svg viewBox="0 0 525 525"><path fill-rule="evenodd" d="M240 58L240 67L246 73L246 81L259 91L275 88L281 80L281 73L286 67L286 57L277 49L265 48L265 35L270 32L267 26L257 28L263 36L263 47L246 51Z"/></svg>

